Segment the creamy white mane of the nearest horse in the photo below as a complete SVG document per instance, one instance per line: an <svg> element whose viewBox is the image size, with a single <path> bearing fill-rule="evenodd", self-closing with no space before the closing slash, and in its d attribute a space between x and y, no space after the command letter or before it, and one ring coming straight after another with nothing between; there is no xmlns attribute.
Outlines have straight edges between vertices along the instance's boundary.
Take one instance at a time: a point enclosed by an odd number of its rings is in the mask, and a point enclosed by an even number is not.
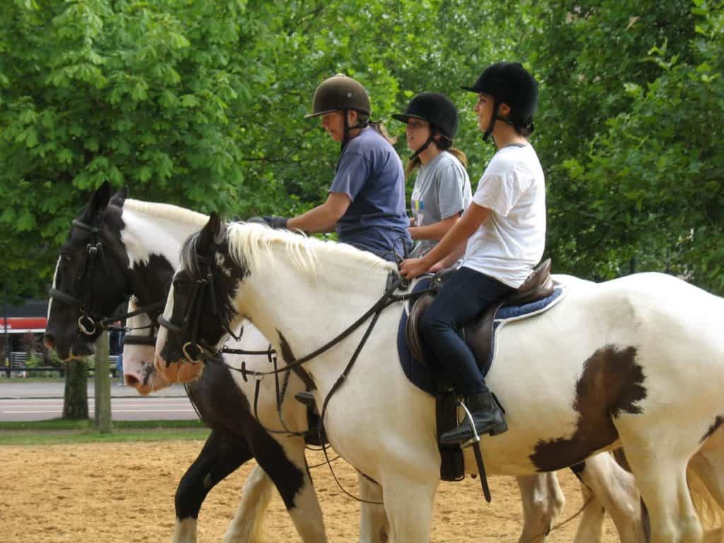
<svg viewBox="0 0 724 543"><path fill-rule="evenodd" d="M272 230L264 224L234 222L227 227L229 252L232 258L245 264L251 273L259 266L260 252L281 249L299 271L314 277L320 267L342 266L355 271L379 269L397 270L397 266L367 251L345 243L321 241L315 237L287 230Z"/></svg>

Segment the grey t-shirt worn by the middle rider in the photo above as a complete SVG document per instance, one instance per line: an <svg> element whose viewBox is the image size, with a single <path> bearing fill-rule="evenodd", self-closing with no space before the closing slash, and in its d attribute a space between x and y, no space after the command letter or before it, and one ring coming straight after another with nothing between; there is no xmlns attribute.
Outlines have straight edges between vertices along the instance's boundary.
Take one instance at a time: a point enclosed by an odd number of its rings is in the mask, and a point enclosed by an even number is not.
<svg viewBox="0 0 724 543"><path fill-rule="evenodd" d="M470 178L463 164L447 151L442 151L420 166L412 191L411 209L418 227L428 226L460 214L473 199ZM437 241L421 240L413 256L424 255Z"/></svg>

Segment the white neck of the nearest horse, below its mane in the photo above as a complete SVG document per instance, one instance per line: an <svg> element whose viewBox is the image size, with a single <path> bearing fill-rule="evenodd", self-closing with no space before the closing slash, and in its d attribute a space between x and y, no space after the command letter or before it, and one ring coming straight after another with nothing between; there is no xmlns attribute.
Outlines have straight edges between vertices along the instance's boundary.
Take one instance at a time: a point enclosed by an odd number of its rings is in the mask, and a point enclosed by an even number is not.
<svg viewBox="0 0 724 543"><path fill-rule="evenodd" d="M261 256L256 273L243 279L235 298L237 310L279 352L284 342L295 358L301 358L374 306L384 293L388 273L323 260L312 274L298 269L283 251L271 249Z"/></svg>

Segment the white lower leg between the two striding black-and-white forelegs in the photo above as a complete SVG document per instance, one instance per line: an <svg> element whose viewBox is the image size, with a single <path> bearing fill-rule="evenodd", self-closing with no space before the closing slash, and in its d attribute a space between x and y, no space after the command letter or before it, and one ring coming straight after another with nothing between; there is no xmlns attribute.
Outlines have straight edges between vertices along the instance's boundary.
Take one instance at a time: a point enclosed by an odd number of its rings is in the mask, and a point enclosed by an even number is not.
<svg viewBox="0 0 724 543"><path fill-rule="evenodd" d="M274 494L274 484L260 466L249 473L241 491L241 502L226 534L224 543L261 541L264 512Z"/></svg>

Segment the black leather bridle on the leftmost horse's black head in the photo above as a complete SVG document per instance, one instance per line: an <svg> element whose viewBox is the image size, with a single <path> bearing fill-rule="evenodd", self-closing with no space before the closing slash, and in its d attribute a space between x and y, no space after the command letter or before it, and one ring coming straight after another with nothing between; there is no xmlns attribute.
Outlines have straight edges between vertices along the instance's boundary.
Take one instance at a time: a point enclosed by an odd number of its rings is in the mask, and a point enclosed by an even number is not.
<svg viewBox="0 0 724 543"><path fill-rule="evenodd" d="M73 219L72 224L86 232L90 232L90 242L85 245L85 262L75 277L75 292L69 294L63 290L51 287L48 294L51 298L58 300L60 303L64 303L66 306L78 308L80 311L80 317L78 317L78 329L80 332L87 336L93 336L98 330L106 329L116 321L122 321L123 319L140 315L141 313L150 314L151 311L158 310L165 305L164 300L161 300L156 303L150 303L147 306L142 306L135 311L109 317L104 317L98 315L95 311L91 311L90 300L93 298L93 291L90 289L88 282L96 271L99 259L104 269L106 269L106 272L110 275L103 240L101 238L101 227L98 224L86 224L78 219ZM83 291L83 293L81 293L81 291ZM83 299L80 298L81 295Z"/></svg>

